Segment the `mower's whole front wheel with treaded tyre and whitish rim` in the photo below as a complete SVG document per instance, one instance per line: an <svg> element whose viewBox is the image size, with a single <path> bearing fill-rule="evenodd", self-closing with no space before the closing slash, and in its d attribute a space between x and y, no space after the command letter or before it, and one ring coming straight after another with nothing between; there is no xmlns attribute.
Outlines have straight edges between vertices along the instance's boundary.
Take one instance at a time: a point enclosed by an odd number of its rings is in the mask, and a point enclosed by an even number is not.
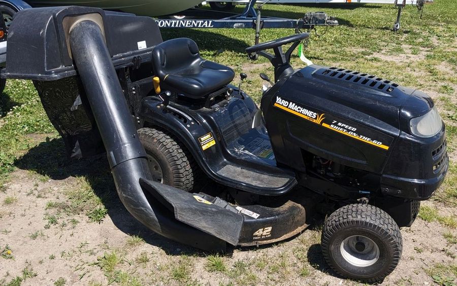
<svg viewBox="0 0 457 286"><path fill-rule="evenodd" d="M322 230L322 254L339 275L365 282L381 281L402 255L400 228L385 211L368 204L337 209Z"/></svg>

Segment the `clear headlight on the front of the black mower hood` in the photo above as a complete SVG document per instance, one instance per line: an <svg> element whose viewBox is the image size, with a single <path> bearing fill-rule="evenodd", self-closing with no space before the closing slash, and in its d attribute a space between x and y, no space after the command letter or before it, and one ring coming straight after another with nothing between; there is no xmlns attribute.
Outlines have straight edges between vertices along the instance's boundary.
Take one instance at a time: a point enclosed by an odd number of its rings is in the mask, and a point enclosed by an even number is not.
<svg viewBox="0 0 457 286"><path fill-rule="evenodd" d="M443 127L440 114L436 106L428 113L412 118L409 122L411 133L419 137L432 137Z"/></svg>

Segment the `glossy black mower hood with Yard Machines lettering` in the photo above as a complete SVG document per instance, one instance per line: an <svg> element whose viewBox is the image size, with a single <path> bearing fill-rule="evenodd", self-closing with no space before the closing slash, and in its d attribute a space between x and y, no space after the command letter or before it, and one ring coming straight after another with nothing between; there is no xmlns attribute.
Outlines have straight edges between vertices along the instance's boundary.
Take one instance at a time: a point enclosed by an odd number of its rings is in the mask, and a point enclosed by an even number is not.
<svg viewBox="0 0 457 286"><path fill-rule="evenodd" d="M430 197L447 171L444 124L429 138L409 129L411 118L433 106L421 91L316 65L281 79L262 98L279 164L305 171L305 150L378 174L385 194L417 199Z"/></svg>

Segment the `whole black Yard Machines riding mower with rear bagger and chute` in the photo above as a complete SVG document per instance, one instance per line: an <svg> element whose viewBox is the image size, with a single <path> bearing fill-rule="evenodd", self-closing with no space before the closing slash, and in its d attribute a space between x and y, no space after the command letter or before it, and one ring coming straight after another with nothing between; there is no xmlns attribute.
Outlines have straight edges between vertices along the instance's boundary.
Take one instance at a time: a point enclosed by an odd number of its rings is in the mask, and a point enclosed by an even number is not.
<svg viewBox="0 0 457 286"><path fill-rule="evenodd" d="M246 49L275 68L260 108L192 40L162 42L151 18L95 8L19 12L2 77L34 80L69 157L106 153L120 200L152 231L225 251L291 238L316 204L333 202L325 261L379 281L401 257L399 227L444 179L444 124L418 90L293 69L308 36Z"/></svg>

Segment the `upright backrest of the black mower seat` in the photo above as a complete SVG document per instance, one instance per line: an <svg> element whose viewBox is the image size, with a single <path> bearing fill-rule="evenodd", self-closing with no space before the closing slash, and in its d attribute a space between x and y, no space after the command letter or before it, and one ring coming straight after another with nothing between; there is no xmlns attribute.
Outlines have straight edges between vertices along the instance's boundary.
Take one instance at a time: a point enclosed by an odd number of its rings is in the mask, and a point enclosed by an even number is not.
<svg viewBox="0 0 457 286"><path fill-rule="evenodd" d="M164 80L168 74L177 73L182 67L191 68L196 62L203 60L197 44L188 38L162 42L152 51L152 65L160 80Z"/></svg>

